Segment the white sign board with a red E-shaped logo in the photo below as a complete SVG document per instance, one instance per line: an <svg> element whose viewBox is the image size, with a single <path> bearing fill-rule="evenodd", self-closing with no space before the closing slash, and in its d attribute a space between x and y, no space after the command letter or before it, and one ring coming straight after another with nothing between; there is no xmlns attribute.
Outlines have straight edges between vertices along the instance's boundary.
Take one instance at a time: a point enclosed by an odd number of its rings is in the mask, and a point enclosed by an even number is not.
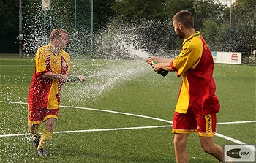
<svg viewBox="0 0 256 163"><path fill-rule="evenodd" d="M216 63L221 64L241 64L242 53L236 52L217 52Z"/></svg>

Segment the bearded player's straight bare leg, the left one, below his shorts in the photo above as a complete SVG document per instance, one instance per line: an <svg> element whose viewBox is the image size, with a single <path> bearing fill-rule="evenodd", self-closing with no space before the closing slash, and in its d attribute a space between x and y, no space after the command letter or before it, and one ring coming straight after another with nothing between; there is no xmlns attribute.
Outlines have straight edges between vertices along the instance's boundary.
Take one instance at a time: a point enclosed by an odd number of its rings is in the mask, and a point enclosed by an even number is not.
<svg viewBox="0 0 256 163"><path fill-rule="evenodd" d="M174 149L176 162L189 162L189 156L187 155L187 137L189 134L174 134Z"/></svg>

